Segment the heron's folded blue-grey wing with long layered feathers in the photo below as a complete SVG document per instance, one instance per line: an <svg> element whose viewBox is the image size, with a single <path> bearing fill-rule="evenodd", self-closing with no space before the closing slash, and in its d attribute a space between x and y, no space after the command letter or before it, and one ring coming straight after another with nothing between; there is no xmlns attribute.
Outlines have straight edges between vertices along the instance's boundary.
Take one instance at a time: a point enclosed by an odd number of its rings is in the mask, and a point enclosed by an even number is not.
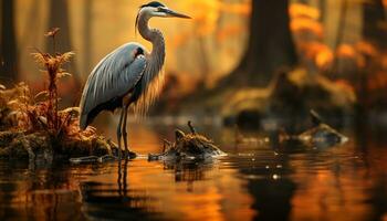
<svg viewBox="0 0 387 221"><path fill-rule="evenodd" d="M81 128L87 126L88 113L98 105L122 97L139 82L146 59L144 46L128 43L106 55L87 78L81 98Z"/></svg>

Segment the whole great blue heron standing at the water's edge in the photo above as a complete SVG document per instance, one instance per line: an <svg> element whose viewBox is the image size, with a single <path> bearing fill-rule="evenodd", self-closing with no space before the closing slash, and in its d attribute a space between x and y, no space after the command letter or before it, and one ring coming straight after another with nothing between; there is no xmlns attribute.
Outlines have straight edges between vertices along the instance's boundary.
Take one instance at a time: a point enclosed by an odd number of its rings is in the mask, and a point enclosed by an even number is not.
<svg viewBox="0 0 387 221"><path fill-rule="evenodd" d="M151 52L135 42L119 46L94 67L82 93L81 129L85 129L102 110L114 112L122 108L117 126L119 159L122 136L125 157L128 156L126 118L129 105L134 104L135 112L144 114L155 101L163 84L165 41L159 30L148 27L153 17L189 19L188 15L177 13L157 1L143 4L135 28L144 39L151 42ZM130 152L130 157L133 156L135 154Z"/></svg>

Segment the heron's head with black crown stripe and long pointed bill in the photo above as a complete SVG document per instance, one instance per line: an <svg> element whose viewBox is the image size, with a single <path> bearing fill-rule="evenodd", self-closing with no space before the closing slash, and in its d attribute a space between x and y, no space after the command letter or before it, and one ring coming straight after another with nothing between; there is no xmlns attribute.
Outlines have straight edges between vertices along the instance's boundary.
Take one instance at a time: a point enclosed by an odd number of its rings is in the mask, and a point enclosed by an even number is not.
<svg viewBox="0 0 387 221"><path fill-rule="evenodd" d="M161 18L181 18L181 19L191 19L190 17L178 13L174 10L168 9L165 4L158 1L151 1L149 3L143 4L139 7L139 11L136 18L136 25L138 22L139 14L146 14L148 18L151 17L161 17Z"/></svg>

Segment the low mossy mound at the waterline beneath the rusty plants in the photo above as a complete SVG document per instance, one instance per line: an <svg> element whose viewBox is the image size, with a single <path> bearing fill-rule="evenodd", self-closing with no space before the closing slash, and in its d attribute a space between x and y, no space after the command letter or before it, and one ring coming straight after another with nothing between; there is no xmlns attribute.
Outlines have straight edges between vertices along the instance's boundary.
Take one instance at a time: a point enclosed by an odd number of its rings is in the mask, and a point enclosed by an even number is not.
<svg viewBox="0 0 387 221"><path fill-rule="evenodd" d="M3 159L50 160L116 154L116 145L102 136L56 140L45 133L0 131L0 158Z"/></svg>

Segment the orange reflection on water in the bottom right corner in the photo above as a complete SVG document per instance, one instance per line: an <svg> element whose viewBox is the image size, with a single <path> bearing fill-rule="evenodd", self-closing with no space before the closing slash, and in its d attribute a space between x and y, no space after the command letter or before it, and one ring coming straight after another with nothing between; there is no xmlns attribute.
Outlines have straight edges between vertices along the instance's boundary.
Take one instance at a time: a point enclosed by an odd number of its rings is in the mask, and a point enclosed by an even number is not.
<svg viewBox="0 0 387 221"><path fill-rule="evenodd" d="M387 168L385 160L375 164L375 159L386 159L386 154L385 147L358 152L355 144L349 143L331 152L314 171L300 171L302 167L295 166L292 178L299 181L299 190L292 198L291 219L373 220L377 215L374 203L378 202L372 201L375 192L370 190L379 185L379 178L386 179Z"/></svg>

